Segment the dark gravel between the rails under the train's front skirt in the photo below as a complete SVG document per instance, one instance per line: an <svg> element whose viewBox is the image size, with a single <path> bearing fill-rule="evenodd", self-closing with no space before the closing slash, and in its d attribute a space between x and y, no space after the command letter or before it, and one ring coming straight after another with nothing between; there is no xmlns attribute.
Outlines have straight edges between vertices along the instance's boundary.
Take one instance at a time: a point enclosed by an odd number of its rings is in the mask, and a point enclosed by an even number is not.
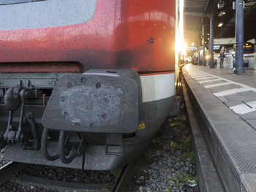
<svg viewBox="0 0 256 192"><path fill-rule="evenodd" d="M116 182L116 177L112 172L68 169L56 166L30 165L26 167L26 169L23 169L21 172L16 173L15 177L18 177L22 174L39 177L46 180L56 180L71 183L101 184L105 185L108 189L112 188L113 184ZM15 178L13 178L12 180L10 180L10 182L7 182L3 186L1 186L0 191L53 192L58 190L43 188L37 185L20 185L18 183L15 183Z"/></svg>

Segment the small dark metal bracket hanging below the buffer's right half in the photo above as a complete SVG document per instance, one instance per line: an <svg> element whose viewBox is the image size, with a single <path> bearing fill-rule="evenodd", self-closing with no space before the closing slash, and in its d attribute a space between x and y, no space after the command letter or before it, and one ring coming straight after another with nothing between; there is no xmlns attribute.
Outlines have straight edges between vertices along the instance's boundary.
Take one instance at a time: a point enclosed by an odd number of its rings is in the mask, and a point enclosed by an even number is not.
<svg viewBox="0 0 256 192"><path fill-rule="evenodd" d="M106 155L124 155L123 134L106 134Z"/></svg>

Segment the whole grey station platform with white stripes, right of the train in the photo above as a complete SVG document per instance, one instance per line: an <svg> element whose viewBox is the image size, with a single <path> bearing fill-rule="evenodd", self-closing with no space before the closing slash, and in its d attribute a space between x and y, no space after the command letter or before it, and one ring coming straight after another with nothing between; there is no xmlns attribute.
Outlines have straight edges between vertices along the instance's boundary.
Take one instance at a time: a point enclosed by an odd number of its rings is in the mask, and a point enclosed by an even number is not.
<svg viewBox="0 0 256 192"><path fill-rule="evenodd" d="M187 65L183 75L225 191L256 191L256 72Z"/></svg>

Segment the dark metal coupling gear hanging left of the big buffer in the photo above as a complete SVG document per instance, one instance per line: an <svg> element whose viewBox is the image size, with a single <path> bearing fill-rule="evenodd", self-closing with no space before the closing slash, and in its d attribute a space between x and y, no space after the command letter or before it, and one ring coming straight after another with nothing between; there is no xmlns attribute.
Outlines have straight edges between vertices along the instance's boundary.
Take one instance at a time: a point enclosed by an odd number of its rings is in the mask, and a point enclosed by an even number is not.
<svg viewBox="0 0 256 192"><path fill-rule="evenodd" d="M2 134L4 142L20 142L24 149L37 150L39 143L37 138L37 128L33 120L33 113L26 113L26 99L38 97L40 91L34 88L23 88L21 86L11 87L4 94L4 105L9 110L7 128ZM18 128L15 128L12 118L15 111L20 111ZM25 128L25 123L29 125L29 130Z"/></svg>

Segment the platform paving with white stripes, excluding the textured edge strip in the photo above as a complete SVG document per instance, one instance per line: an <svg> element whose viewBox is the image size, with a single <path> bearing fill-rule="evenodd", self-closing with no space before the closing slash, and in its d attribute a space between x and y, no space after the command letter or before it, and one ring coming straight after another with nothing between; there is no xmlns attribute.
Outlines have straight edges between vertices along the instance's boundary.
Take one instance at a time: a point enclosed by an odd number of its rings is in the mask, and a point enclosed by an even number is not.
<svg viewBox="0 0 256 192"><path fill-rule="evenodd" d="M209 69L207 66L192 65L187 66L187 69L192 72L191 76L194 80L217 96L250 126L256 128L255 70L248 69L245 74L237 75L233 73L232 69Z"/></svg>

